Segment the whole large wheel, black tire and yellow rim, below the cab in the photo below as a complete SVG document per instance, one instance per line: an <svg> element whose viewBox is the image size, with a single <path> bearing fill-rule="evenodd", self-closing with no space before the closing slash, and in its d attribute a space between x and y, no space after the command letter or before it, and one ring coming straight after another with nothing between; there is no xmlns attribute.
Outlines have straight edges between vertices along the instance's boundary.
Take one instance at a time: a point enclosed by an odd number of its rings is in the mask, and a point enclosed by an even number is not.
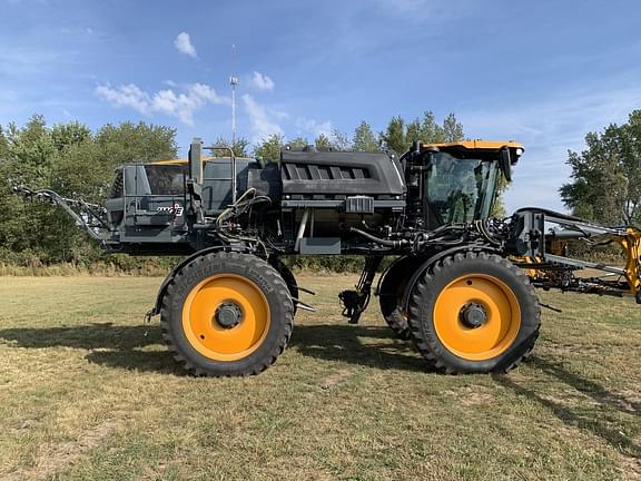
<svg viewBox="0 0 641 481"><path fill-rule="evenodd" d="M469 291L461 289L462 284L458 283L463 282L470 286ZM440 297L446 292L448 294ZM465 301L467 293L475 294ZM481 306L481 311L485 312L483 301L476 301L483 295L492 300L491 303L495 301L495 306L503 306L503 311L496 307L494 314L491 307L485 306L489 314L486 317L481 314L481 325L465 325L471 321L464 310ZM496 298L503 296L503 301ZM462 304L463 302L465 304ZM446 315L435 315L437 305L438 313ZM505 313L507 315L503 315ZM490 328L491 322L494 323L493 327L500 323L500 331L495 340L493 336L485 338L491 337L489 342L496 344L490 344L486 351L476 352L479 344L474 343L479 337L475 336L483 333L470 331L476 327ZM442 326L441 334L437 331L438 325ZM540 326L541 308L534 287L523 271L497 255L469 252L445 257L428 268L412 291L412 337L425 359L436 370L448 374L510 371L531 353ZM455 332L454 337L448 337L447 332ZM458 337L458 333L464 335ZM454 340L453 345L464 345L465 350L453 349L448 344L451 340Z"/></svg>

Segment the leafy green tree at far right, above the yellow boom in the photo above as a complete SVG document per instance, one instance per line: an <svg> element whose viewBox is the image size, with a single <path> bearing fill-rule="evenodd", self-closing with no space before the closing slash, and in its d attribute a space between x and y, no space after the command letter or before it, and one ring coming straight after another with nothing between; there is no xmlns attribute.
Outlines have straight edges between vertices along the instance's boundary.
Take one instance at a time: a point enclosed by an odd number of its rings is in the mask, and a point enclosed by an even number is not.
<svg viewBox="0 0 641 481"><path fill-rule="evenodd" d="M641 219L641 110L628 122L611 124L585 136L586 148L570 150L571 181L561 189L576 216L599 223L634 224Z"/></svg>

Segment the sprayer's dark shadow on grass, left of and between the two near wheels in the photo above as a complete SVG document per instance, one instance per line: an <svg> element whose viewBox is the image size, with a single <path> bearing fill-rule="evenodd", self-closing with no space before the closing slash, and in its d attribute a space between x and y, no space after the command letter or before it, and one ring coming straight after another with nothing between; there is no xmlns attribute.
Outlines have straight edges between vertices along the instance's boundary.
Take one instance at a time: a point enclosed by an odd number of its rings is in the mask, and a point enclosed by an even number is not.
<svg viewBox="0 0 641 481"><path fill-rule="evenodd" d="M377 342L377 340L381 340ZM181 374L167 351L144 351L161 344L157 325L117 326L110 323L75 327L0 330L0 341L28 349L73 347L91 351L89 362L128 369ZM365 341L365 342L364 342ZM393 338L387 327L300 325L294 327L288 349L302 355L376 369L428 371L411 343Z"/></svg>

